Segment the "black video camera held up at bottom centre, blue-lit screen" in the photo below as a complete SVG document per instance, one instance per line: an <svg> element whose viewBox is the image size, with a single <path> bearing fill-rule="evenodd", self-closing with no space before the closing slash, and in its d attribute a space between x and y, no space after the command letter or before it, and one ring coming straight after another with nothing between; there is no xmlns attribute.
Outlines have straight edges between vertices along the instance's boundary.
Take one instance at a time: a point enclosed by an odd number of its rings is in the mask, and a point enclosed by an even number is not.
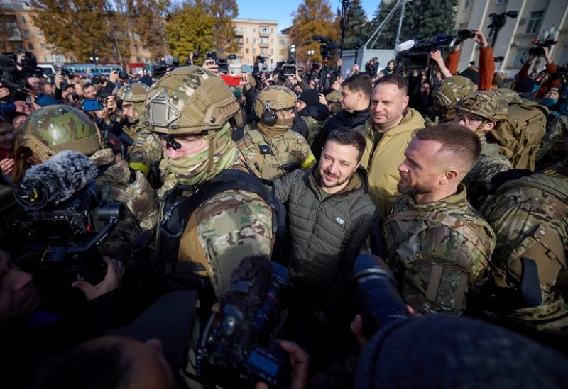
<svg viewBox="0 0 568 389"><path fill-rule="evenodd" d="M215 388L252 388L258 381L287 387L289 356L271 333L285 308L288 283L288 270L264 256L241 261L196 346L199 380Z"/></svg>

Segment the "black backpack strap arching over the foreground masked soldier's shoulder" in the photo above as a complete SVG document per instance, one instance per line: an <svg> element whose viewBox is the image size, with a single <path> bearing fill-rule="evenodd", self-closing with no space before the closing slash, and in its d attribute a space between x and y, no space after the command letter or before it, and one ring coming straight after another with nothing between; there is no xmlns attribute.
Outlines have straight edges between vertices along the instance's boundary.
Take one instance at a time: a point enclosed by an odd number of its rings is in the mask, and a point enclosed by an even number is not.
<svg viewBox="0 0 568 389"><path fill-rule="evenodd" d="M202 289L208 288L209 278L200 276L198 271L205 270L204 266L194 262L178 262L180 239L187 220L204 201L217 193L239 189L256 193L272 209L272 227L275 244L273 257L278 258L285 247L286 210L284 205L266 188L254 174L236 169L226 169L209 181L199 186L191 196L182 196L187 190L185 186L177 186L168 192L165 198L163 220L158 225L158 239L155 242L154 266L164 277L167 288Z"/></svg>

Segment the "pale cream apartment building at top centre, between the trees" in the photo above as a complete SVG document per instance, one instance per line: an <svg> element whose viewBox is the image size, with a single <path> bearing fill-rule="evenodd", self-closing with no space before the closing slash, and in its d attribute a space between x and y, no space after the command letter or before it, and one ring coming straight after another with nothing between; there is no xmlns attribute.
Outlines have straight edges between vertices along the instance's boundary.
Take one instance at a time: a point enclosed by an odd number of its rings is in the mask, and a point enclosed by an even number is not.
<svg viewBox="0 0 568 389"><path fill-rule="evenodd" d="M233 72L240 72L241 66L253 66L258 55L266 59L268 69L288 58L290 36L278 33L278 22L257 19L233 19L235 38L239 43L236 60L231 60ZM229 53L233 54L233 53Z"/></svg>

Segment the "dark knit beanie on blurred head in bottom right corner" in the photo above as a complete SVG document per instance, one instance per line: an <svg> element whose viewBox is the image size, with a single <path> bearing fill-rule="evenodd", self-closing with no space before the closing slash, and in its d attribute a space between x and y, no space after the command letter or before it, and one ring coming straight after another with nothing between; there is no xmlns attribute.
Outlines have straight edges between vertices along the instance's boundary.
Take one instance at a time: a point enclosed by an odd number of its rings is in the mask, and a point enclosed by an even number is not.
<svg viewBox="0 0 568 389"><path fill-rule="evenodd" d="M354 388L568 388L568 360L480 320L397 320L366 344Z"/></svg>

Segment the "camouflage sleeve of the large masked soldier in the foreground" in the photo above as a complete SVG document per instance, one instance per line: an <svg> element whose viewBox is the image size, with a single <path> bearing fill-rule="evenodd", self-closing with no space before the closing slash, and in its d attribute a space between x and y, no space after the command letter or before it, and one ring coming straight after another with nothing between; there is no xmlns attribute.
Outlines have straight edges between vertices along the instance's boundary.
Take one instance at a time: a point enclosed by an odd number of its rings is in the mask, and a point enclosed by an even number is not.
<svg viewBox="0 0 568 389"><path fill-rule="evenodd" d="M231 274L246 256L271 256L272 210L259 196L225 191L194 212L197 237L209 263L215 295L230 286ZM193 215L192 215L193 217Z"/></svg>

